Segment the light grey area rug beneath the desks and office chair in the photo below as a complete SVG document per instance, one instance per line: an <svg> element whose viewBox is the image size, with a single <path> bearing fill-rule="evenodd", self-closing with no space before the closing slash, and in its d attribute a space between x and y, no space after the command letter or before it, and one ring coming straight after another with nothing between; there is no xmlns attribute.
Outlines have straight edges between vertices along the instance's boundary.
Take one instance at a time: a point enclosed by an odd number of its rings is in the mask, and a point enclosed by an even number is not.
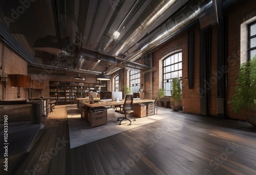
<svg viewBox="0 0 256 175"><path fill-rule="evenodd" d="M123 117L124 115L116 113L113 108L109 108L107 111L107 124L91 128L89 122L81 119L81 113L78 111L76 105L67 105L70 148L81 146L98 139L143 126L144 124L170 117L170 113L168 114L167 111L170 111L170 109L158 110L158 115L142 118L130 115L127 117L136 118L136 121L132 120L132 125L128 125L129 121L122 121L122 124L119 125L117 118Z"/></svg>

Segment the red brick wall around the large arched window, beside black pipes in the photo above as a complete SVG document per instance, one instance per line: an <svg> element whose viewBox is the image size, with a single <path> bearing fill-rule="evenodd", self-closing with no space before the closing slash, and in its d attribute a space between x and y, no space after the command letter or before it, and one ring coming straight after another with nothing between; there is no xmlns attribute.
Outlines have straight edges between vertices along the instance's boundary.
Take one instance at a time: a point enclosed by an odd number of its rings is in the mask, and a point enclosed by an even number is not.
<svg viewBox="0 0 256 175"><path fill-rule="evenodd" d="M162 66L161 60L164 56L173 51L182 50L182 105L185 112L200 114L200 94L199 94L199 75L200 75L200 26L196 24L193 28L195 37L195 60L194 60L194 88L188 89L188 31L184 31L178 36L173 37L168 42L159 46L153 53L153 66L159 69L153 74L153 97L157 97L159 88L162 88ZM217 72L217 26L212 27L212 55L211 55L211 77L214 79ZM209 115L217 115L217 81L211 82L210 88Z"/></svg>

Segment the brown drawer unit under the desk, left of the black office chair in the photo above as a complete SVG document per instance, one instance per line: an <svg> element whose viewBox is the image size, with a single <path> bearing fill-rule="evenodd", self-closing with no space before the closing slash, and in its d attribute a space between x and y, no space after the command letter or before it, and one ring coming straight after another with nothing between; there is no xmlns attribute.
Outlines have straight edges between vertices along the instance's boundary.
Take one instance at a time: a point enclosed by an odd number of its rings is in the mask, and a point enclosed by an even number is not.
<svg viewBox="0 0 256 175"><path fill-rule="evenodd" d="M102 124L106 124L106 108L94 109L88 111L88 121L91 124L91 127L97 127Z"/></svg>

